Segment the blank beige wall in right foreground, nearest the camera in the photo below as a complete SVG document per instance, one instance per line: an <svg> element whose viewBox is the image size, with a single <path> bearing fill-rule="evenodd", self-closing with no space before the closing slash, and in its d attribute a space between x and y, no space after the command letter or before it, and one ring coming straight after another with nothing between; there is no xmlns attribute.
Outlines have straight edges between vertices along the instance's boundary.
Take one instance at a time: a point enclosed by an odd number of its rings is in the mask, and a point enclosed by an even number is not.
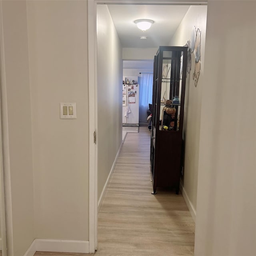
<svg viewBox="0 0 256 256"><path fill-rule="evenodd" d="M208 1L195 256L256 252L255 12Z"/></svg>

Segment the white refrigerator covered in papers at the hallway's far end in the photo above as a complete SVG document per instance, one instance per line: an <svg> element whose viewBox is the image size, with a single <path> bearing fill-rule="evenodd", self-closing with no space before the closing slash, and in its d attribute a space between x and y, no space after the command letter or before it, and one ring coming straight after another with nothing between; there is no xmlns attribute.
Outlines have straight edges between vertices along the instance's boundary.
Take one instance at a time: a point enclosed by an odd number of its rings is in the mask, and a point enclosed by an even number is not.
<svg viewBox="0 0 256 256"><path fill-rule="evenodd" d="M126 84L128 81L129 84ZM139 88L136 80L125 79L122 95L123 126L139 126Z"/></svg>

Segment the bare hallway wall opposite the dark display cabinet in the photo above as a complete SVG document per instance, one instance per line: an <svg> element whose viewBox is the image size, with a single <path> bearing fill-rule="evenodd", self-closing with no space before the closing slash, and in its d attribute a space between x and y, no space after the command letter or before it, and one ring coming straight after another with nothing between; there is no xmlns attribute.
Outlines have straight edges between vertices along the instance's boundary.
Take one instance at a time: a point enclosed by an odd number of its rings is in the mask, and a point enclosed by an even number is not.
<svg viewBox="0 0 256 256"><path fill-rule="evenodd" d="M106 5L97 6L98 199L122 142L122 48Z"/></svg>

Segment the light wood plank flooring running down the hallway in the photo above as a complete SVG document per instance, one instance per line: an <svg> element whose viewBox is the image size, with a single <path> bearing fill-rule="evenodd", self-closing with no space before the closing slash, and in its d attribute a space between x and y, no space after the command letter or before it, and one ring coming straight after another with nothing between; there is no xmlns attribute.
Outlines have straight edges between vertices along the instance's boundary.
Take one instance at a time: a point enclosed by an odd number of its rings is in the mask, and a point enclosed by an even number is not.
<svg viewBox="0 0 256 256"><path fill-rule="evenodd" d="M148 128L128 133L98 214L95 256L194 255L195 224L185 201L174 190L151 194L149 158ZM35 254L78 255L88 254Z"/></svg>

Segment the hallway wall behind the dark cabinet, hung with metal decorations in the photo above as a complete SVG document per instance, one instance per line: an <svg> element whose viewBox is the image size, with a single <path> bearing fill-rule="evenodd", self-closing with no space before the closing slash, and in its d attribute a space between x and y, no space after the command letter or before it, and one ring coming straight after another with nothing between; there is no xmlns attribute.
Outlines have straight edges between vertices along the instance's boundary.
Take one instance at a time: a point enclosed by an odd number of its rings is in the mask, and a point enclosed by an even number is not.
<svg viewBox="0 0 256 256"><path fill-rule="evenodd" d="M192 57L192 67L186 80L186 94L184 107L183 136L185 141L184 176L182 177L182 194L188 208L195 220L196 196L198 179L199 137L200 117L202 102L202 83L204 76L204 46L206 34L206 12L207 6L190 6L180 26L170 41L171 46L184 46L190 40L194 26L201 30L201 73L197 87L194 86L193 72L195 67L195 56Z"/></svg>

